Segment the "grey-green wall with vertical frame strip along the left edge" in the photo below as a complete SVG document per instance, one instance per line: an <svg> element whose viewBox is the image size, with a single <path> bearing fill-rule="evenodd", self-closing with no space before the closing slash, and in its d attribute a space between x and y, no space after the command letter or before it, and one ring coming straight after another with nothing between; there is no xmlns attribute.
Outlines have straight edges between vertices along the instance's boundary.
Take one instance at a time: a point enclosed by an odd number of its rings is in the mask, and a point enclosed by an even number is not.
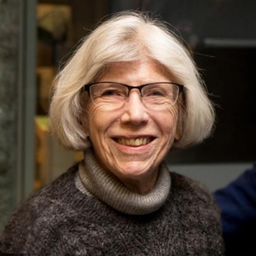
<svg viewBox="0 0 256 256"><path fill-rule="evenodd" d="M36 4L0 1L0 233L33 190Z"/></svg>

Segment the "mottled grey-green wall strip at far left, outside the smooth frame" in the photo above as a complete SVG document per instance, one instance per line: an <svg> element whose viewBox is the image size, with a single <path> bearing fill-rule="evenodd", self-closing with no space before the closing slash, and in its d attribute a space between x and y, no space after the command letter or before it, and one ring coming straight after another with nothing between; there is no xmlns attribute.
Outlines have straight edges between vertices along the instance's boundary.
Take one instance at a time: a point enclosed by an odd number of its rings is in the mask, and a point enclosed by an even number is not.
<svg viewBox="0 0 256 256"><path fill-rule="evenodd" d="M0 3L0 230L15 208L20 1Z"/></svg>

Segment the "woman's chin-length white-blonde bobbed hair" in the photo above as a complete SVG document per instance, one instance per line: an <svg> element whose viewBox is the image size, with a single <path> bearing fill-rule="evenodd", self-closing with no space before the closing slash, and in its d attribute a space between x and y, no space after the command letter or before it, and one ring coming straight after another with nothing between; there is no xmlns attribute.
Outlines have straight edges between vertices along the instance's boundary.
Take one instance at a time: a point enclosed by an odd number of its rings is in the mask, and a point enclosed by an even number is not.
<svg viewBox="0 0 256 256"><path fill-rule="evenodd" d="M62 146L72 150L91 146L81 122L84 84L99 79L113 62L137 61L142 56L160 63L170 79L184 85L177 102L180 139L172 148L201 143L211 134L214 108L189 50L164 22L141 12L122 12L90 32L55 78L50 127Z"/></svg>

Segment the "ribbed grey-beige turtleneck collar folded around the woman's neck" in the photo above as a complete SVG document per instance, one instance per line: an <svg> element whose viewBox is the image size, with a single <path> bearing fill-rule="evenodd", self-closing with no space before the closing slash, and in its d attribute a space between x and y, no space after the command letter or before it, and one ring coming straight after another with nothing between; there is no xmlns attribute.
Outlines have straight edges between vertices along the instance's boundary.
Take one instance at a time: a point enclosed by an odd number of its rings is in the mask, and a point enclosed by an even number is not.
<svg viewBox="0 0 256 256"><path fill-rule="evenodd" d="M127 214L143 215L158 210L166 201L171 189L171 175L166 164L160 165L158 179L146 195L127 189L117 177L102 168L90 149L84 152L84 161L79 164L79 189L108 206Z"/></svg>

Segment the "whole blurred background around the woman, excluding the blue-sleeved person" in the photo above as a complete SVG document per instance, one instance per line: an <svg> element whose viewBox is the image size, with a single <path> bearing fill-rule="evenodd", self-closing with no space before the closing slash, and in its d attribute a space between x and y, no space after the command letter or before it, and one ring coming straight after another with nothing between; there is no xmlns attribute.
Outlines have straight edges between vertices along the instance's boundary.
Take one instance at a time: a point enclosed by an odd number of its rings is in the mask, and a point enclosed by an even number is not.
<svg viewBox="0 0 256 256"><path fill-rule="evenodd" d="M213 191L256 158L254 0L0 1L0 232L11 212L81 152L49 135L49 89L79 40L120 10L150 11L192 51L216 104L213 136L166 157L170 169Z"/></svg>

